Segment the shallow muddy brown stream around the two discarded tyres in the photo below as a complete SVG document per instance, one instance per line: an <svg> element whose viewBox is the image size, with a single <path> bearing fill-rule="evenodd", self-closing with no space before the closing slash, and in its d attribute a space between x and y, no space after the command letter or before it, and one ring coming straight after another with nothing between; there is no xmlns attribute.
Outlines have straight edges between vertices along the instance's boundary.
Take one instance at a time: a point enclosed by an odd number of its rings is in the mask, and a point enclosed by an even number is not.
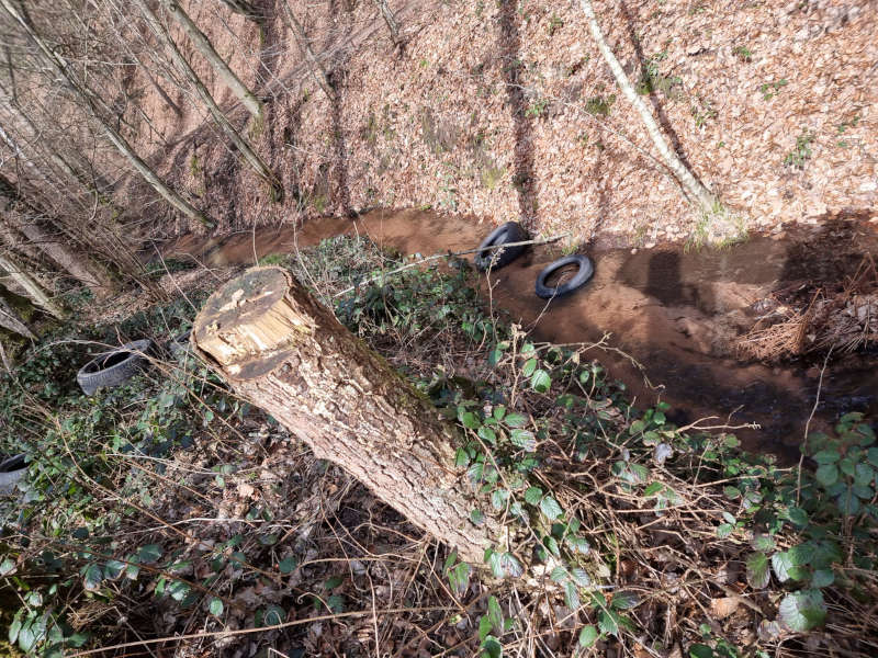
<svg viewBox="0 0 878 658"><path fill-rule="evenodd" d="M225 238L184 236L162 251L166 257L192 254L210 265L252 264L327 237L359 234L403 253L426 256L472 249L489 229L488 223L472 217L373 211L357 220L322 218ZM865 253L878 254L875 225L841 219L754 237L721 250L687 251L678 245L640 251L597 248L588 251L595 261L593 280L547 303L534 295L534 281L561 253L556 247L540 246L491 274L489 298L536 340L603 340L605 347L589 354L624 382L641 406L663 399L672 405L671 418L678 424L707 417L713 420L700 424L758 423L759 430L735 431L745 447L789 461L814 406L822 362L768 366L740 360L729 345L753 325L754 302L809 277L843 281ZM487 299L485 276L481 292ZM812 429L831 426L853 410L875 417L876 363L875 352L830 362Z"/></svg>

